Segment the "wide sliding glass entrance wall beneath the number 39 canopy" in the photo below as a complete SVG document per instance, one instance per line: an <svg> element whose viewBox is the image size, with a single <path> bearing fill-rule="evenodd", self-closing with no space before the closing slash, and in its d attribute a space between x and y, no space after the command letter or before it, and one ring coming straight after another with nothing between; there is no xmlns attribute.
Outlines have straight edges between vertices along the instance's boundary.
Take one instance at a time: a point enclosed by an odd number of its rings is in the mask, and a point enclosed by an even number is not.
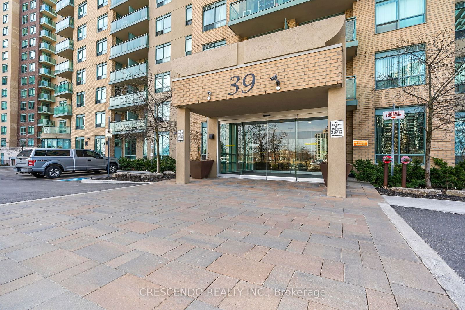
<svg viewBox="0 0 465 310"><path fill-rule="evenodd" d="M322 178L327 118L220 122L219 174L240 178Z"/></svg>

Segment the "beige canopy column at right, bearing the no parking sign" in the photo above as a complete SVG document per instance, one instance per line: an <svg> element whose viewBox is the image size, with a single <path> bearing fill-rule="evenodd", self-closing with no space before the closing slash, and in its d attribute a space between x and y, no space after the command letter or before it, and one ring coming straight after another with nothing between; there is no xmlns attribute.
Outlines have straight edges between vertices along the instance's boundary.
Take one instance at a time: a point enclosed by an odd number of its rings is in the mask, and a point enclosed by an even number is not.
<svg viewBox="0 0 465 310"><path fill-rule="evenodd" d="M331 121L344 122L344 136L331 138ZM346 197L346 105L345 87L328 90L328 196Z"/></svg>

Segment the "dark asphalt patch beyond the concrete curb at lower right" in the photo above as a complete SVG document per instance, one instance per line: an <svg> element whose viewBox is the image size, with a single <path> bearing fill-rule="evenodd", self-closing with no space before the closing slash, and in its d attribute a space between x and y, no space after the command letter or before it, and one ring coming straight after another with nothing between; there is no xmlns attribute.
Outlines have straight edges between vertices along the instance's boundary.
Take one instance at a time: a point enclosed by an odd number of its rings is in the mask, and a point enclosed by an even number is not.
<svg viewBox="0 0 465 310"><path fill-rule="evenodd" d="M462 278L465 278L465 215L392 205L392 208Z"/></svg>

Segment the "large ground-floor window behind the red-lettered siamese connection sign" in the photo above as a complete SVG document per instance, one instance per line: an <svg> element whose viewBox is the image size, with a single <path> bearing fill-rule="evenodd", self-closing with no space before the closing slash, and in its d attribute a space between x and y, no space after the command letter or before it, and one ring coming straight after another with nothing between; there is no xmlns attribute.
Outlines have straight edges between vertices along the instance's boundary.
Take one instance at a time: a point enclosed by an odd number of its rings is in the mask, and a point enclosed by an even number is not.
<svg viewBox="0 0 465 310"><path fill-rule="evenodd" d="M425 109L423 106L404 106L404 119L394 120L394 163L400 163L402 156L425 160ZM391 154L392 120L384 120L383 112L391 109L377 109L375 116L376 162Z"/></svg>

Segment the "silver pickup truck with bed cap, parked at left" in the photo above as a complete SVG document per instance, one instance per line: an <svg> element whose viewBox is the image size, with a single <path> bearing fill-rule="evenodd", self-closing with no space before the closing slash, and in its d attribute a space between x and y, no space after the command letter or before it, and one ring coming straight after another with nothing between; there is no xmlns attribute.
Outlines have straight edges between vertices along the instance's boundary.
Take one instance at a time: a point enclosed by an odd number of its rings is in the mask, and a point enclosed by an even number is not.
<svg viewBox="0 0 465 310"><path fill-rule="evenodd" d="M118 158L110 157L110 173L118 170ZM85 149L24 149L16 156L15 171L36 178L58 178L63 171L93 171L107 169L108 158Z"/></svg>

